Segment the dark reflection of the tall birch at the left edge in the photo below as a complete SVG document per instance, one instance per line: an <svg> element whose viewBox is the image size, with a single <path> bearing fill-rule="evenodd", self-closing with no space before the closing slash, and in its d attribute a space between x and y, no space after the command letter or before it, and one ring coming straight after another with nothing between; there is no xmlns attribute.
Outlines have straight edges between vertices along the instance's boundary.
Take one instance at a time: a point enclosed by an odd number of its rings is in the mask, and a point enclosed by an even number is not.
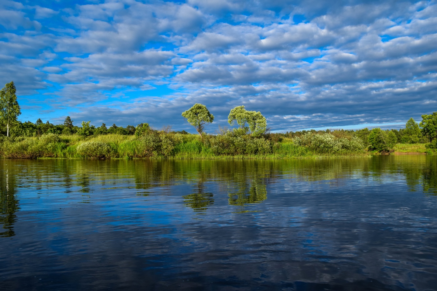
<svg viewBox="0 0 437 291"><path fill-rule="evenodd" d="M15 211L19 210L15 199L17 183L15 175L6 168L0 174L0 223L6 231L0 232L0 237L15 236L14 223L17 220Z"/></svg>

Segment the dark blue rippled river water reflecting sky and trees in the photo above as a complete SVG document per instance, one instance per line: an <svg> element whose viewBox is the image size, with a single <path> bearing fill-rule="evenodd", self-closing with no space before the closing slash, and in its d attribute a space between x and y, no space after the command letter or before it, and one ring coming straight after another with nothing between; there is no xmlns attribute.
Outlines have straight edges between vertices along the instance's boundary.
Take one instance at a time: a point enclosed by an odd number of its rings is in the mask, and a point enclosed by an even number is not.
<svg viewBox="0 0 437 291"><path fill-rule="evenodd" d="M0 190L0 290L437 290L436 156L0 160Z"/></svg>

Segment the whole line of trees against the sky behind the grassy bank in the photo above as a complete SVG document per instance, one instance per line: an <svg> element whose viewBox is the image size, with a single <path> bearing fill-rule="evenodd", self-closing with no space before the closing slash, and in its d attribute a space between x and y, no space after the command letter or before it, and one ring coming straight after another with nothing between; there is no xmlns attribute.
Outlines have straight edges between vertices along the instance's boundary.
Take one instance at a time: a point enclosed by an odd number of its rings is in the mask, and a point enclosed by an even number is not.
<svg viewBox="0 0 437 291"><path fill-rule="evenodd" d="M73 120L67 116L63 124L54 125L49 121L43 122L41 118L34 123L31 121L17 121L17 117L21 114L21 108L17 102L16 88L14 82L7 83L0 90L0 124L3 125L0 132L6 136L12 137L32 137L42 136L45 134L56 135L81 135L88 137L91 135L136 135L141 136L148 132L156 131L150 128L149 124L141 123L137 126L128 125L125 128L117 126L115 123L109 128L102 123L101 126L90 125L90 121L82 121L81 126L74 126ZM187 111L182 112L182 116L191 124L198 134L204 139L205 125L214 121L208 108L203 104L194 104ZM229 125L238 125L238 128L233 128L232 131L221 130L218 135L229 136L244 136L249 138L264 138L272 142L280 142L284 138L291 138L295 142L303 142L304 140L312 140L313 135L333 135L337 139L351 140L355 137L361 139L364 145L370 145L369 149L375 149L379 152L388 152L396 143L429 143L427 147L437 149L437 112L432 114L423 114L422 121L418 124L413 118L410 118L405 125L405 128L399 130L382 130L381 128L368 128L360 130L329 130L326 131L298 131L286 133L271 133L267 128L266 118L259 111L247 111L243 105L234 107L228 115ZM164 129L165 132L170 132L170 127ZM186 131L170 132L188 134ZM202 135L203 134L203 135ZM302 139L306 137L305 139ZM328 137L328 136L326 136ZM319 141L320 142L320 141ZM311 142L310 142L311 143Z"/></svg>

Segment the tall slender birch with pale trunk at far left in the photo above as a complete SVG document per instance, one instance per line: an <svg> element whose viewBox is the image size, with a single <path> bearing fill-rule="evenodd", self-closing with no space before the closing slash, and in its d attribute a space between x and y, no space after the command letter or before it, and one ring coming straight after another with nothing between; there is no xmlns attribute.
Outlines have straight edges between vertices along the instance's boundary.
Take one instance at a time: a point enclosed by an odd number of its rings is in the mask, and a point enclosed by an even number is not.
<svg viewBox="0 0 437 291"><path fill-rule="evenodd" d="M9 125L15 123L18 115L21 114L16 93L17 89L15 88L14 81L7 83L0 90L0 121L7 126L7 136L9 136Z"/></svg>

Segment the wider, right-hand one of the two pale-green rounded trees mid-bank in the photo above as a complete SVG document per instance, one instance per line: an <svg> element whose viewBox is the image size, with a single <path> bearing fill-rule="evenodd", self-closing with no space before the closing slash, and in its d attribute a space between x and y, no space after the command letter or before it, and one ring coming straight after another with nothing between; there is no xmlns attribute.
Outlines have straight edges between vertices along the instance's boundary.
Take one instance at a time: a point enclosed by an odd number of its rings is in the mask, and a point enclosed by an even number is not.
<svg viewBox="0 0 437 291"><path fill-rule="evenodd" d="M239 125L243 134L250 131L253 136L259 136L266 131L267 121L260 111L247 111L244 109L244 105L237 106L229 112L228 122L230 125L235 125L235 122ZM246 127L246 124L249 127Z"/></svg>

